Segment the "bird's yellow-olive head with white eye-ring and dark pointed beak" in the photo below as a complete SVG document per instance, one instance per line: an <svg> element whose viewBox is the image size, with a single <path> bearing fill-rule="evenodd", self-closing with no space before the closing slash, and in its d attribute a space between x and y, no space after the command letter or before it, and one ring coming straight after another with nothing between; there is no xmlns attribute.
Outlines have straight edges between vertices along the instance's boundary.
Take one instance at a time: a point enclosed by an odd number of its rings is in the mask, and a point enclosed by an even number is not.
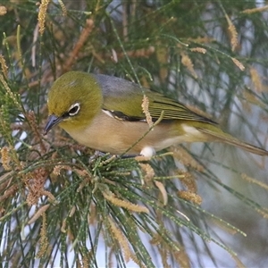
<svg viewBox="0 0 268 268"><path fill-rule="evenodd" d="M59 124L64 130L86 127L101 109L102 90L92 74L69 71L54 81L48 93L45 134Z"/></svg>

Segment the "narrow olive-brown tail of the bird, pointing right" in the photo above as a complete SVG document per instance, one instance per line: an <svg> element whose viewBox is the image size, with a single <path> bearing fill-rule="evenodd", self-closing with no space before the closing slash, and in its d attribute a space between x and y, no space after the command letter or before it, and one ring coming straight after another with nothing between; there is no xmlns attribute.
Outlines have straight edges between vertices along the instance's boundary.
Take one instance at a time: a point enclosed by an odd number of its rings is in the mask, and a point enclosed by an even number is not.
<svg viewBox="0 0 268 268"><path fill-rule="evenodd" d="M214 132L213 130L203 129L203 128L197 128L197 130L199 130L200 132L204 133L207 136L210 136L215 141L224 142L232 146L239 147L255 155L268 155L268 151L260 147L255 147L244 141L241 141L238 138L234 138L230 134L225 133L223 131L220 132L219 129L217 132Z"/></svg>

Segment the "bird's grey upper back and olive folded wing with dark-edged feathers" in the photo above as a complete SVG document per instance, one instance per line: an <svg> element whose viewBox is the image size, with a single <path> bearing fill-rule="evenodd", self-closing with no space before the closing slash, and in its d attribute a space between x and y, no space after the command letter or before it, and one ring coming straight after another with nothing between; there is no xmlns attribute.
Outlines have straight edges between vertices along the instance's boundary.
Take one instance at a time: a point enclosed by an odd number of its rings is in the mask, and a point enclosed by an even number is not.
<svg viewBox="0 0 268 268"><path fill-rule="evenodd" d="M126 121L145 120L141 104L143 93L149 99L149 113L156 121L163 112L163 120L204 121L216 124L214 121L195 113L185 105L180 104L159 93L147 88L138 87L137 84L120 78L96 75L96 80L102 85L104 104L103 109L114 114L115 118Z"/></svg>

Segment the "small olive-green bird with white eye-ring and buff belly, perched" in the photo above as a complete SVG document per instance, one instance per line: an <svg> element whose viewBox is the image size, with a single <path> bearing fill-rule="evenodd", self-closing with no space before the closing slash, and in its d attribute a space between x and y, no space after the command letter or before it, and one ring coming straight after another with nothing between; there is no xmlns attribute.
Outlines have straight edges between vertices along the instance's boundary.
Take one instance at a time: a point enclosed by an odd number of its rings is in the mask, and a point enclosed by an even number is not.
<svg viewBox="0 0 268 268"><path fill-rule="evenodd" d="M153 130L141 106L144 94L152 121L162 118ZM127 152L151 156L182 142L211 141L240 147L256 155L268 155L268 151L232 137L216 122L175 100L141 89L128 80L103 74L64 73L54 81L47 106L45 135L59 125L80 144L113 155Z"/></svg>

